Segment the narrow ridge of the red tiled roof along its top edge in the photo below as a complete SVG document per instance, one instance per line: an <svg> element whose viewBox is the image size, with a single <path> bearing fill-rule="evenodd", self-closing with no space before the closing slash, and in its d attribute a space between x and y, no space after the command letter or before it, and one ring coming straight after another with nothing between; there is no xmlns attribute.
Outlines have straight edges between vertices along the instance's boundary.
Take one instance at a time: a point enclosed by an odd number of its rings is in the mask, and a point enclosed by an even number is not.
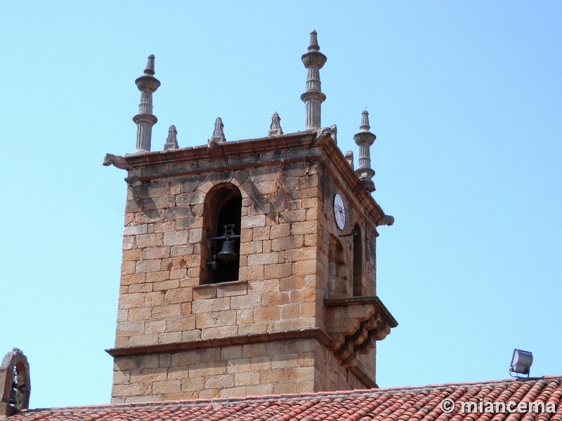
<svg viewBox="0 0 562 421"><path fill-rule="evenodd" d="M504 380L484 380L481 382L450 382L450 383L440 383L440 384L428 384L428 385L417 385L417 386L399 386L399 387L379 387L376 389L353 389L353 390L334 390L329 392L313 392L313 393L300 393L300 394L266 394L266 395L252 395L252 396L233 396L229 398L211 398L211 399L182 399L178 401L150 401L150 402L131 402L131 403L99 403L93 405L74 405L74 406L58 406L52 408L33 408L23 410L22 413L36 413L41 411L61 411L69 409L89 409L89 408L138 408L143 406L174 406L180 403L221 403L221 402L236 402L236 401L255 401L263 399L280 399L280 398L307 398L313 396L350 396L353 394L384 394L387 392L400 392L400 391L412 391L419 389L443 389L447 387L458 387L467 385L489 385L489 384L499 384L499 383L512 383L512 382L537 382L540 380L554 380L562 379L562 375L549 375L543 377L531 377L527 378L511 378Z"/></svg>

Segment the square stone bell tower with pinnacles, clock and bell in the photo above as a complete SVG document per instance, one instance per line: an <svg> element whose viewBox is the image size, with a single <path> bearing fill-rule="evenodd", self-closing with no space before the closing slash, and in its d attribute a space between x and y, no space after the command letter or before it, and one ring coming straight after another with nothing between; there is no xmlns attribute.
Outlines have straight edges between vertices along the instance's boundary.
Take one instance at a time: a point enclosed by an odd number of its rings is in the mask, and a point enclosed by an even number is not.
<svg viewBox="0 0 562 421"><path fill-rule="evenodd" d="M149 58L136 153L104 161L127 171L112 402L377 386L375 342L397 323L377 298L375 245L393 218L370 194L368 156L353 171L336 127L320 127L315 32L308 49L304 131L284 135L275 113L268 137L226 141L217 119L198 147L170 129L165 152L150 152ZM363 114L362 155L368 128Z"/></svg>

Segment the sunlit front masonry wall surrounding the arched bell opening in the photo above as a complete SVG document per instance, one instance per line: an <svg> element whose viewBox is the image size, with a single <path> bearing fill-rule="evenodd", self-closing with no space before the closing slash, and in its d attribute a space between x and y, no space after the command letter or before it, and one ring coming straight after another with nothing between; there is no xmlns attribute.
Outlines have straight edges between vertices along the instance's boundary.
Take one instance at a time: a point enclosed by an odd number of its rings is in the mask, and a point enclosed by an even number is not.
<svg viewBox="0 0 562 421"><path fill-rule="evenodd" d="M131 182L115 347L315 327L319 166ZM200 286L204 199L221 182L242 194L241 282Z"/></svg>

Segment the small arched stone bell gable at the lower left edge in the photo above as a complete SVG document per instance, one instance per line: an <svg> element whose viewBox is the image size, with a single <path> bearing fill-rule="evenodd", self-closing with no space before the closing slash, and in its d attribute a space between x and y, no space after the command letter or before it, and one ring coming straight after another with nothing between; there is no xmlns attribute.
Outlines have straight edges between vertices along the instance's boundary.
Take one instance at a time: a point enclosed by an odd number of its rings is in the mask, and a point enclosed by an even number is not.
<svg viewBox="0 0 562 421"><path fill-rule="evenodd" d="M10 417L30 407L30 364L18 348L0 364L0 417Z"/></svg>

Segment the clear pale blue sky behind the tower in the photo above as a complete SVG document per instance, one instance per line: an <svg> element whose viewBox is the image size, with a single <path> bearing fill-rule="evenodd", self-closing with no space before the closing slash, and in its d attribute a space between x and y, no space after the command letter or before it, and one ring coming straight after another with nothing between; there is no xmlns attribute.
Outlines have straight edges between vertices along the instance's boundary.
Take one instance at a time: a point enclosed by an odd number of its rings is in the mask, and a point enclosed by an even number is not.
<svg viewBox="0 0 562 421"><path fill-rule="evenodd" d="M562 374L562 4L556 1L0 0L0 354L31 363L32 407L107 403L126 185L149 54L152 149L302 130L318 31L322 124L353 150L367 107L381 387ZM1 355L0 355L1 357Z"/></svg>

